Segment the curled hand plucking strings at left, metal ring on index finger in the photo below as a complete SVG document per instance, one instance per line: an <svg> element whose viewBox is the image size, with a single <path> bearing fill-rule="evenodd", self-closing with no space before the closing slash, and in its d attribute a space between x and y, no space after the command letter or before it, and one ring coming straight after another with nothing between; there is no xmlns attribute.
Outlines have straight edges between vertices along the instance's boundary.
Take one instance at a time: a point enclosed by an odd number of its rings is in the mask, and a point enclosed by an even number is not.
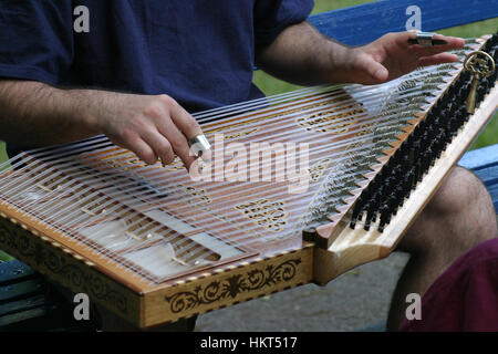
<svg viewBox="0 0 498 354"><path fill-rule="evenodd" d="M108 101L108 100L107 100ZM195 160L188 140L203 134L196 119L167 95L115 94L95 112L97 129L131 149L147 164L173 163L177 155L187 169Z"/></svg>

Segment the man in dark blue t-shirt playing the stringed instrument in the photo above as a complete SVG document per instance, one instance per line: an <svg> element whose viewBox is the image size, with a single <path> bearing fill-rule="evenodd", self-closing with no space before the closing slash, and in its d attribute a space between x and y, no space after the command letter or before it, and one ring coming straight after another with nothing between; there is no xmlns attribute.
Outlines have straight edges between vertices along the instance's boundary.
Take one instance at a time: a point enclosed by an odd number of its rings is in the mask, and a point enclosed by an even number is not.
<svg viewBox="0 0 498 354"><path fill-rule="evenodd" d="M84 6L90 31L73 31ZM453 62L445 45L386 34L347 48L305 22L311 0L12 0L0 4L0 138L19 147L97 134L147 164L187 168L188 139L201 134L188 112L261 96L252 67L298 84L382 83L421 65ZM405 295L424 293L471 246L496 235L486 189L456 168L400 243L412 254L394 294L390 327Z"/></svg>

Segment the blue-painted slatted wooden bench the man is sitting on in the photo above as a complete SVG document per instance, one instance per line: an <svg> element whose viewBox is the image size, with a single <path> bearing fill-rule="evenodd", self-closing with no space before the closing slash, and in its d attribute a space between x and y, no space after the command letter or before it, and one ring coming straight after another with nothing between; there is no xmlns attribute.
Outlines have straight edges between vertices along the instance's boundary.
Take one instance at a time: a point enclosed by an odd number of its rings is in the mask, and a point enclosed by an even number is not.
<svg viewBox="0 0 498 354"><path fill-rule="evenodd" d="M495 17L488 0L383 0L310 17L322 33L350 45L422 23L437 31ZM418 21L419 20L419 21ZM498 144L467 153L460 165L486 184L498 209ZM73 304L55 287L19 261L0 262L0 331L94 331L93 322L73 320Z"/></svg>

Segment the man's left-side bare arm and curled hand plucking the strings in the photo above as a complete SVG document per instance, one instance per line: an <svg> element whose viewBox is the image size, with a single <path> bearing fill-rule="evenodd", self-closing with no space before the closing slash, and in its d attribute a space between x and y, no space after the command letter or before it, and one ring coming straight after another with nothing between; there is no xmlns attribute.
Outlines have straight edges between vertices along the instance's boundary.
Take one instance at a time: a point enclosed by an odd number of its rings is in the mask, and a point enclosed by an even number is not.
<svg viewBox="0 0 498 354"><path fill-rule="evenodd" d="M169 164L178 155L194 162L187 138L201 129L167 95L134 95L98 90L61 90L0 80L0 139L30 146L69 143L98 134L133 150L147 164Z"/></svg>

